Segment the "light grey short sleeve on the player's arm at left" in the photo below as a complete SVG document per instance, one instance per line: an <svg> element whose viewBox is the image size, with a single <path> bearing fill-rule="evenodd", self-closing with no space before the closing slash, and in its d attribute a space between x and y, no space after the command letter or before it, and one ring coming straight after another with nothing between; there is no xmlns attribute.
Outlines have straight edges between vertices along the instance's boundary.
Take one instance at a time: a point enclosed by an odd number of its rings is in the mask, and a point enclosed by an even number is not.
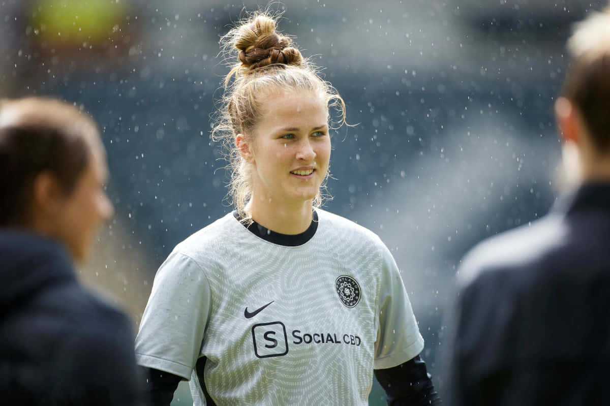
<svg viewBox="0 0 610 406"><path fill-rule="evenodd" d="M190 379L203 342L211 294L203 269L172 252L152 283L135 339L139 365Z"/></svg>

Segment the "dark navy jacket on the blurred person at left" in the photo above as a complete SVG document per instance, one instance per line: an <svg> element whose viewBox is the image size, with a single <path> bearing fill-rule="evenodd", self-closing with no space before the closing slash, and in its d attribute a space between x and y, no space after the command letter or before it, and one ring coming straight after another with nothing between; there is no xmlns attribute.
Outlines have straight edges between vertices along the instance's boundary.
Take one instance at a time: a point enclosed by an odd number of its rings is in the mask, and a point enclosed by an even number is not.
<svg viewBox="0 0 610 406"><path fill-rule="evenodd" d="M133 342L59 243L0 229L0 404L139 405Z"/></svg>

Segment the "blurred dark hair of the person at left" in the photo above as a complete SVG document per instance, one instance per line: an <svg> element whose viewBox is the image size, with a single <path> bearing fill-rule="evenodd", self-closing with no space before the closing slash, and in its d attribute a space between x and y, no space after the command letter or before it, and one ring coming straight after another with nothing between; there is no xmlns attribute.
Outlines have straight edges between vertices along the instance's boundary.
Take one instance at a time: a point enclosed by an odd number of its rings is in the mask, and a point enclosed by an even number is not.
<svg viewBox="0 0 610 406"><path fill-rule="evenodd" d="M76 107L43 98L0 101L0 226L27 225L32 183L43 171L70 194L99 142L93 119Z"/></svg>

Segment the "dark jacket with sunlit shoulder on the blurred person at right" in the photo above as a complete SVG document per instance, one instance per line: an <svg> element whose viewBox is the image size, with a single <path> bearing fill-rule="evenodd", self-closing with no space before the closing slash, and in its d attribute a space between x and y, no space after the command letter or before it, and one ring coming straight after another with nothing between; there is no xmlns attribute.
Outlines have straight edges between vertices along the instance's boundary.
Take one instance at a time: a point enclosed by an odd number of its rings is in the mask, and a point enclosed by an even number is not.
<svg viewBox="0 0 610 406"><path fill-rule="evenodd" d="M610 183L479 244L458 272L454 405L610 405Z"/></svg>

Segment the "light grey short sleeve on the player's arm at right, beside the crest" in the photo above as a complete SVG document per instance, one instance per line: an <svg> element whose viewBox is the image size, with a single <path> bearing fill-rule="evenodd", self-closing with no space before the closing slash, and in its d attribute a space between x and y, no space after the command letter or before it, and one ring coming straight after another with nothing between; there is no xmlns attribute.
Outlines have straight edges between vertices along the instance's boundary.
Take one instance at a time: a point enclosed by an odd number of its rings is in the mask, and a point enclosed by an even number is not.
<svg viewBox="0 0 610 406"><path fill-rule="evenodd" d="M384 245L381 258L381 287L378 296L378 333L375 341L375 369L392 368L416 357L423 350L409 296L400 271Z"/></svg>

